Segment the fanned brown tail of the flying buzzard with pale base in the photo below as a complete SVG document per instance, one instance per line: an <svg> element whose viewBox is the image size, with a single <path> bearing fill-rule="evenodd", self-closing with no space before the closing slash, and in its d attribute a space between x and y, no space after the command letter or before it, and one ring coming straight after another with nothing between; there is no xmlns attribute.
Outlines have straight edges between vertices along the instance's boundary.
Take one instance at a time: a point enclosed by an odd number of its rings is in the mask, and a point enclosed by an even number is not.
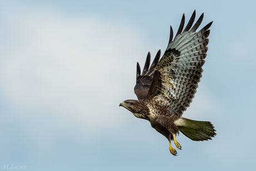
<svg viewBox="0 0 256 171"><path fill-rule="evenodd" d="M208 139L216 135L216 130L211 122L194 121L180 117L174 123L181 133L193 141L208 141Z"/></svg>

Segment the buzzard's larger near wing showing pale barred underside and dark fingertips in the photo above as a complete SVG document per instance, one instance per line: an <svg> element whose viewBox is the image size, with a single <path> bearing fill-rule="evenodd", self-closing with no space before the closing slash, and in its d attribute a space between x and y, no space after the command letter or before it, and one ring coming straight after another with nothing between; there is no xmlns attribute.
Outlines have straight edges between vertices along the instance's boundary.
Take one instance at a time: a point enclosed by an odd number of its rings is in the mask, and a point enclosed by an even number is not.
<svg viewBox="0 0 256 171"><path fill-rule="evenodd" d="M196 33L203 17L204 14L201 14L192 27L195 20L194 11L188 25L182 32L185 21L183 15L178 33L173 41L173 30L171 28L168 47L155 68L152 84L147 95L159 105L166 106L175 115L181 116L189 107L202 76L202 66L205 63L204 59L208 50L206 45L209 43L207 38L212 24L210 22Z"/></svg>

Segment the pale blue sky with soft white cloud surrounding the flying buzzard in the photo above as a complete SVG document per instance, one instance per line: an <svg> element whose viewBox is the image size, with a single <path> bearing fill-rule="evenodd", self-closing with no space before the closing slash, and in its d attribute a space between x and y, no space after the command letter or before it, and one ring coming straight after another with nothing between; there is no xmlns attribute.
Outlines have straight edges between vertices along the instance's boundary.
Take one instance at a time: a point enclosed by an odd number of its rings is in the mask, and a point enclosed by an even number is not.
<svg viewBox="0 0 256 171"><path fill-rule="evenodd" d="M0 1L0 169L252 170L255 168L253 1ZM136 62L164 52L204 12L208 56L184 117L211 121L213 141L167 139L119 107ZM199 28L199 29L200 29Z"/></svg>

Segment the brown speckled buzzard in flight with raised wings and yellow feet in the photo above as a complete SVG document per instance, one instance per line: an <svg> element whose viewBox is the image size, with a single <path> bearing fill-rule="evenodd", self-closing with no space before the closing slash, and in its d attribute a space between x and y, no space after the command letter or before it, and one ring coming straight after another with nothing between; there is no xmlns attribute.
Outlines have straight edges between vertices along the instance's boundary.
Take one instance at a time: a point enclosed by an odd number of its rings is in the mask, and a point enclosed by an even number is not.
<svg viewBox="0 0 256 171"><path fill-rule="evenodd" d="M176 141L179 131L193 141L207 141L216 135L211 122L181 117L194 98L208 50L209 28L213 22L196 32L203 17L204 13L192 27L195 20L194 11L183 30L183 14L174 40L173 29L170 29L169 44L161 60L159 61L159 50L149 68L150 53L147 54L142 74L137 63L134 92L138 100L126 100L119 105L131 111L134 116L148 120L157 132L168 139L170 152L174 156L177 152L171 147L171 140L181 149Z"/></svg>

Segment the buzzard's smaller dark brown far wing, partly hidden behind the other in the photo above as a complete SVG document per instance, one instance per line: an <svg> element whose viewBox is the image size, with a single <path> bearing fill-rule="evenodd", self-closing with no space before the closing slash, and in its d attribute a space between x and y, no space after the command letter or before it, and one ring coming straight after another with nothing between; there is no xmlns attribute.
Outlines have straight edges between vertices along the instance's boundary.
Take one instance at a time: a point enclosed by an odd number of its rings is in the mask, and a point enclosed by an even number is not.
<svg viewBox="0 0 256 171"><path fill-rule="evenodd" d="M160 59L161 51L157 51L154 61L152 62L150 68L150 53L147 54L146 62L144 65L144 69L141 73L140 64L137 63L137 73L136 73L136 85L134 87L134 92L138 98L138 100L143 100L147 96L147 92L149 91L149 87L152 82L152 78L154 75L155 67Z"/></svg>

